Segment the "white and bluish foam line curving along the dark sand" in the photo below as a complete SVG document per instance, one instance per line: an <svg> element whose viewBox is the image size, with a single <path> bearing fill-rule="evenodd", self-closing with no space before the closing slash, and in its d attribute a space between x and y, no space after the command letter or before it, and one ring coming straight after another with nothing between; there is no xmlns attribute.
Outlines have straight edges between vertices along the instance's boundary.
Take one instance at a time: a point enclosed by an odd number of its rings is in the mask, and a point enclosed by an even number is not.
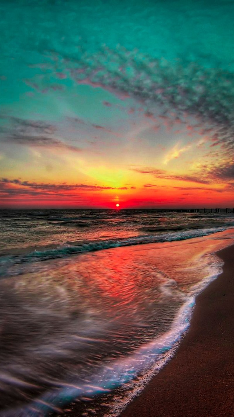
<svg viewBox="0 0 234 417"><path fill-rule="evenodd" d="M190 325L192 311L195 306L195 296L222 272L222 268L220 268L221 264L222 261L218 261L217 258L215 266L210 266L210 275L195 286L192 286L191 295L188 296L187 301L180 307L170 330L163 335L139 347L130 356L118 358L111 364L111 367L109 364L104 365L96 376L94 376L91 384L80 384L79 387L75 384L66 384L66 387L62 388L59 393L57 390L46 392L39 399L30 403L26 409L9 410L10 414L9 412L3 413L2 417L29 417L29 415L39 417L41 413L45 415L49 412L49 409L43 407L37 414L28 413L29 409L32 410L33 406L35 407L36 405L38 407L39 402L44 406L48 404L47 408L51 409L54 406L56 407L58 403L60 406L67 404L67 402L71 402L72 399L78 396L91 397L101 392L109 392L111 389L125 384L125 388L131 388L131 392L130 390L125 392L124 400L120 398L116 399L115 396L115 403L111 408L111 416L117 417L126 408L127 404L143 390L153 375L157 374L174 356L182 336L185 335ZM144 372L144 375L140 376L137 382L131 382L133 377L136 377L140 372ZM106 414L106 417L109 415Z"/></svg>

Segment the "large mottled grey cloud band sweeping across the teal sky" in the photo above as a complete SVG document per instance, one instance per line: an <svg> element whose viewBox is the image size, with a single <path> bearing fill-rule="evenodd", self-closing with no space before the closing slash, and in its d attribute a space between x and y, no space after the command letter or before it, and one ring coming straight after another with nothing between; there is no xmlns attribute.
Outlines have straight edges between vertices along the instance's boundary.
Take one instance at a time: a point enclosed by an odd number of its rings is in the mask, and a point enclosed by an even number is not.
<svg viewBox="0 0 234 417"><path fill-rule="evenodd" d="M127 50L118 46L111 50L102 46L90 54L84 45L76 48L77 53L63 55L50 50L47 58L54 73L57 65L70 74L75 84L101 87L120 98L134 97L148 108L156 103L161 116L174 114L174 122L181 115L195 116L202 123L209 123L224 146L230 146L233 135L233 75L220 68L204 68L198 63L177 60L173 64L164 58ZM30 80L35 88L43 89L48 78L35 76ZM106 102L108 103L108 102ZM107 105L107 104L104 104ZM152 118L149 110L146 117ZM188 126L194 133L194 127Z"/></svg>

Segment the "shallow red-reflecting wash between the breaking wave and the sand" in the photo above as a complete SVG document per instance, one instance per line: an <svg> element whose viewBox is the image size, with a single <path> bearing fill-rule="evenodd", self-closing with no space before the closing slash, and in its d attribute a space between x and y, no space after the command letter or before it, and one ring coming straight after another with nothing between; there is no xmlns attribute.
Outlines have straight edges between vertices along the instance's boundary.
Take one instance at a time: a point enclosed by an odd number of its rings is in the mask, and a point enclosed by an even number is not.
<svg viewBox="0 0 234 417"><path fill-rule="evenodd" d="M26 263L3 279L2 415L39 416L123 385L105 406L82 405L119 411L173 355L196 294L222 271L212 253L231 243L227 229L32 262L30 273Z"/></svg>

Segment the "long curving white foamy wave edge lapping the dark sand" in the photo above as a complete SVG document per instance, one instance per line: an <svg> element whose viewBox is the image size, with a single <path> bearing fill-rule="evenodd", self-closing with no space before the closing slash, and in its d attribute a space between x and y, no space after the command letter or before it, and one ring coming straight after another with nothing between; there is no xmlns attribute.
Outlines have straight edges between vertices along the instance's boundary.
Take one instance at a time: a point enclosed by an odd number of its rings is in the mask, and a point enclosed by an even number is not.
<svg viewBox="0 0 234 417"><path fill-rule="evenodd" d="M75 379L73 376L68 382L54 379L51 389L22 407L3 410L2 417L47 416L52 411L62 412L58 406L64 407L74 398L85 397L91 400L96 395L108 394L113 392L113 389L124 386L123 392L116 392L114 397L109 399L109 403L106 397L101 399L101 402L104 400L104 405L110 409L111 415L118 417L126 405L142 392L153 375L158 374L175 355L189 329L196 296L217 278L222 272L222 265L223 262L216 259L216 263L210 266L208 276L191 287L190 293L185 296L170 328L165 333L142 344L126 356L120 355L111 363L109 360L104 360L90 379L81 381L78 376Z"/></svg>

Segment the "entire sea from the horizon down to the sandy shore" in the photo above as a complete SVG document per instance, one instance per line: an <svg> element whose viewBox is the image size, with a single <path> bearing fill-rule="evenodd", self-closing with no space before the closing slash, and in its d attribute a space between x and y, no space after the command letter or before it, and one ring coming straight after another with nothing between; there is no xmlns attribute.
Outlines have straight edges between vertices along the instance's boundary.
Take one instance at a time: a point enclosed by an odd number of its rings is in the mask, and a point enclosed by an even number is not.
<svg viewBox="0 0 234 417"><path fill-rule="evenodd" d="M175 354L232 227L231 209L2 210L2 416L118 416Z"/></svg>

